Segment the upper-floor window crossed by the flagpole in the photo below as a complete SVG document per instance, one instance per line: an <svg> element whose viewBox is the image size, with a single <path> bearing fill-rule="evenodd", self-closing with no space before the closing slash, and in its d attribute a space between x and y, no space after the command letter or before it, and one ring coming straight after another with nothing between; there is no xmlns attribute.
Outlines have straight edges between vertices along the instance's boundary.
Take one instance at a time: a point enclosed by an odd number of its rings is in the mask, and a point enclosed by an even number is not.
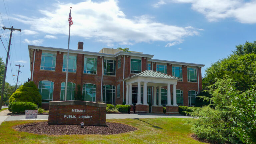
<svg viewBox="0 0 256 144"><path fill-rule="evenodd" d="M76 56L68 56L68 72L76 72ZM67 70L67 55L63 57L62 71Z"/></svg>

